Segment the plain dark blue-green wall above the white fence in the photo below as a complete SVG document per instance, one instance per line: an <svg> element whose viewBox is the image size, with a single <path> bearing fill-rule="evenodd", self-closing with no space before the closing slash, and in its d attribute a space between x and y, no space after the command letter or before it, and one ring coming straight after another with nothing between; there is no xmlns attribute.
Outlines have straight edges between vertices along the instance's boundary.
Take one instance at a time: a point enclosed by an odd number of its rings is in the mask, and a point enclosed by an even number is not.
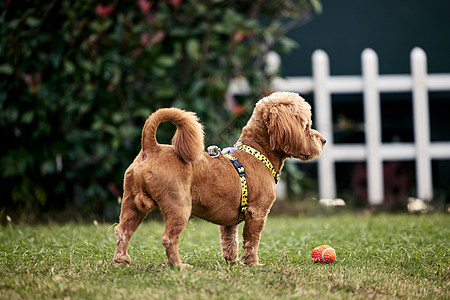
<svg viewBox="0 0 450 300"><path fill-rule="evenodd" d="M419 46L430 73L450 73L449 0L322 0L323 12L289 36L299 48L283 59L285 76L311 75L311 54L325 50L331 74L361 74L360 56L378 53L381 74L410 72L409 53Z"/></svg>

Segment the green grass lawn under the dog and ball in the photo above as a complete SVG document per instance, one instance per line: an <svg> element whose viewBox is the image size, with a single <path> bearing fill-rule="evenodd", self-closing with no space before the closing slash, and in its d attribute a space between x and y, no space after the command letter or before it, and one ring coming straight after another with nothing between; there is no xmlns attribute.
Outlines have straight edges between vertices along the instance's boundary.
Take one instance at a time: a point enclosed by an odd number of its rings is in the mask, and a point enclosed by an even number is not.
<svg viewBox="0 0 450 300"><path fill-rule="evenodd" d="M167 266L164 224L151 218L131 240L128 267L110 263L111 224L0 230L1 299L450 297L450 216L444 214L270 216L262 267L226 265L218 227L191 220L180 243L190 270ZM311 262L311 250L321 244L336 249L334 263Z"/></svg>

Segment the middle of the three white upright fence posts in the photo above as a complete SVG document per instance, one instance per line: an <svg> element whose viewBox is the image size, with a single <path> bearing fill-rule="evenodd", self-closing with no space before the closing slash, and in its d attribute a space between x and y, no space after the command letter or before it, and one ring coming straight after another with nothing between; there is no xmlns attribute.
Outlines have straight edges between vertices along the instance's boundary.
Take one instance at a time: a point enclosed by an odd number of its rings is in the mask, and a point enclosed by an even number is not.
<svg viewBox="0 0 450 300"><path fill-rule="evenodd" d="M383 161L381 158L381 113L378 86L378 57L372 49L362 52L364 125L367 149L367 190L371 205L383 203Z"/></svg>

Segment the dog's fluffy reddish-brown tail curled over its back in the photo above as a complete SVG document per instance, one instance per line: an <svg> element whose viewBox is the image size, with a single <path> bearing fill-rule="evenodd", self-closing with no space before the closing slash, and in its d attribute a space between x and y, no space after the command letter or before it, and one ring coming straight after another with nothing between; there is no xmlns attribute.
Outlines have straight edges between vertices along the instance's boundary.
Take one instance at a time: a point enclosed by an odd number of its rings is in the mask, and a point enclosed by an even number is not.
<svg viewBox="0 0 450 300"><path fill-rule="evenodd" d="M177 126L172 138L175 153L185 162L195 161L204 151L203 126L197 116L178 108L161 108L155 111L145 122L142 129L142 150L159 151L160 144L156 140L156 130L160 123L170 121Z"/></svg>

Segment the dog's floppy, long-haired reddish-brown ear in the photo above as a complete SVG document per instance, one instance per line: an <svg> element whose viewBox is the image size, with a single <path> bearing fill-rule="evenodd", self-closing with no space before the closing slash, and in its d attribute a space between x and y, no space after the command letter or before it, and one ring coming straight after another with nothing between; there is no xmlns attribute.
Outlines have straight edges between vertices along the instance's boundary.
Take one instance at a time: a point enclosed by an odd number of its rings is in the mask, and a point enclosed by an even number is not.
<svg viewBox="0 0 450 300"><path fill-rule="evenodd" d="M291 105L274 105L267 113L267 131L272 150L295 155L305 142L308 120Z"/></svg>

